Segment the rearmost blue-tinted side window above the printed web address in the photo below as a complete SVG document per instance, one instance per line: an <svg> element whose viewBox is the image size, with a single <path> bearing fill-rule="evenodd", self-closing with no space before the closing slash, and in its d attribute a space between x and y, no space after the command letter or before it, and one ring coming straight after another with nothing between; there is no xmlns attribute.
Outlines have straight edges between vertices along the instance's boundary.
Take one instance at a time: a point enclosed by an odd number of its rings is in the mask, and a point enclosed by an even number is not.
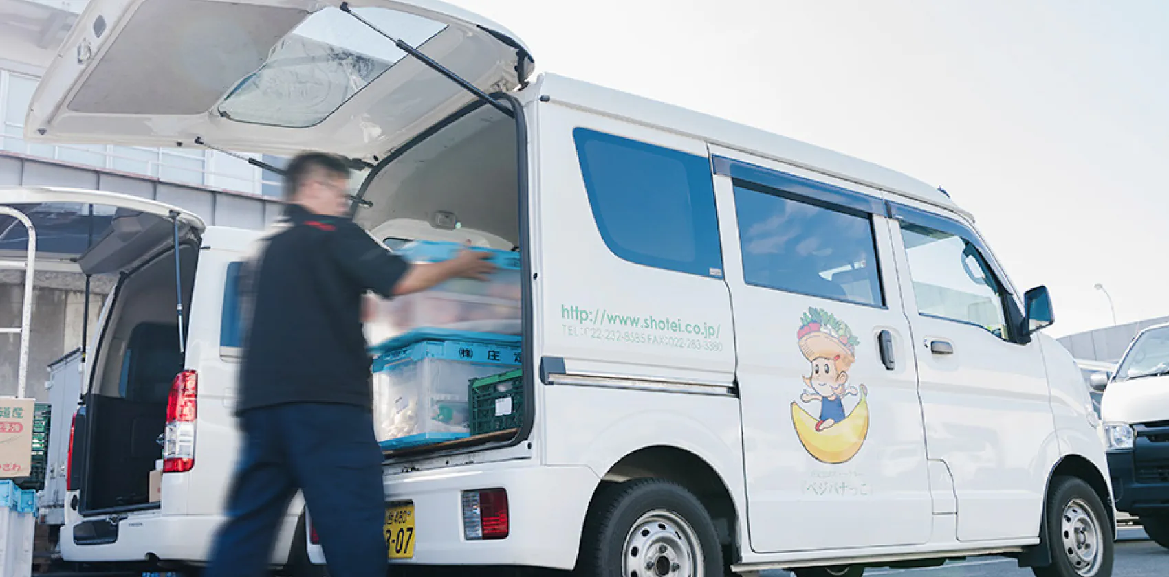
<svg viewBox="0 0 1169 577"><path fill-rule="evenodd" d="M710 159L586 128L573 138L596 228L614 255L722 277Z"/></svg>

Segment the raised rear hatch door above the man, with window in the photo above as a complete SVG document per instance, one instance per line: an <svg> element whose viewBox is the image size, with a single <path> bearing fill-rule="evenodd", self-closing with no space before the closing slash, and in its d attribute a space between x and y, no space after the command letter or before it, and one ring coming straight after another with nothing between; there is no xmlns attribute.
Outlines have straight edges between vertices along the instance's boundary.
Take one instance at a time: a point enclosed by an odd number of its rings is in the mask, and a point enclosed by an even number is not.
<svg viewBox="0 0 1169 577"><path fill-rule="evenodd" d="M373 159L476 99L434 64L486 93L513 90L533 68L513 34L431 0L92 0L26 132Z"/></svg>

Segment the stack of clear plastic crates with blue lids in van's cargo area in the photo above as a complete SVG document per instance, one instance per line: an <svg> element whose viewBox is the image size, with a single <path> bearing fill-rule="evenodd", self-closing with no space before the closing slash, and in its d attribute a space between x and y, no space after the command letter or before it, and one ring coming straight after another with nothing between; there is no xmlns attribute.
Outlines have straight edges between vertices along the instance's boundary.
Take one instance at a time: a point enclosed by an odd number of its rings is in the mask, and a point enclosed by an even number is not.
<svg viewBox="0 0 1169 577"><path fill-rule="evenodd" d="M464 246L414 242L397 253L436 263ZM519 253L484 250L497 272L451 279L429 291L382 300L367 320L373 342L374 422L383 450L465 438L471 382L520 367Z"/></svg>

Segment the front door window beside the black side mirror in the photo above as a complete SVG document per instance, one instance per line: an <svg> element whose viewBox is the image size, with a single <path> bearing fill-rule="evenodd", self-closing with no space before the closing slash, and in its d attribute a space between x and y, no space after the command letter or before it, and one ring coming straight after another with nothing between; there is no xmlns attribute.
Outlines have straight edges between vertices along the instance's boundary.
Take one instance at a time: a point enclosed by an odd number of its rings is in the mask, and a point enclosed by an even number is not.
<svg viewBox="0 0 1169 577"><path fill-rule="evenodd" d="M901 222L918 312L985 328L1009 340L1003 291L974 243Z"/></svg>

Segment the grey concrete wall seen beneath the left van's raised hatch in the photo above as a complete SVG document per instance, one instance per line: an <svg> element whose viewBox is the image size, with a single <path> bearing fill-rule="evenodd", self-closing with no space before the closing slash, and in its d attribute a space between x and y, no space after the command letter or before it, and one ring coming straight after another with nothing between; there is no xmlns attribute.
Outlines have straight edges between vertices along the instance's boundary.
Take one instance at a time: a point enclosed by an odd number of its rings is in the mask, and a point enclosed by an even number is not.
<svg viewBox="0 0 1169 577"><path fill-rule="evenodd" d="M0 272L0 326L15 327L21 321L25 273ZM81 346L85 310L85 277L76 273L39 272L34 277L33 331L29 340L28 380L25 395L48 401L44 389L50 362ZM89 334L97 331L97 318L113 279L95 277L90 286ZM0 396L16 395L20 363L20 336L0 335Z"/></svg>

